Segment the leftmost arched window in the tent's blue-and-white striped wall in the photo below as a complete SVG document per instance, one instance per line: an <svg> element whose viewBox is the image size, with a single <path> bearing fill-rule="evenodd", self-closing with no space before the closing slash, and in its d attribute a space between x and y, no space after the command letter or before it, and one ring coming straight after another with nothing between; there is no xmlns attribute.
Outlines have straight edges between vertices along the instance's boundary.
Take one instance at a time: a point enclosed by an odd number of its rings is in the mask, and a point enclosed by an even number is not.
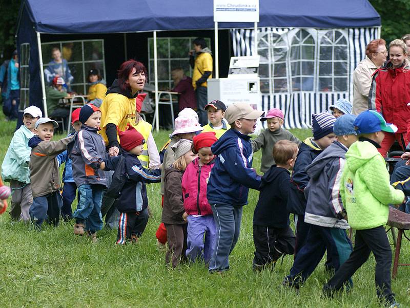
<svg viewBox="0 0 410 308"><path fill-rule="evenodd" d="M288 45L276 33L261 32L258 36L261 93L289 92Z"/></svg>

